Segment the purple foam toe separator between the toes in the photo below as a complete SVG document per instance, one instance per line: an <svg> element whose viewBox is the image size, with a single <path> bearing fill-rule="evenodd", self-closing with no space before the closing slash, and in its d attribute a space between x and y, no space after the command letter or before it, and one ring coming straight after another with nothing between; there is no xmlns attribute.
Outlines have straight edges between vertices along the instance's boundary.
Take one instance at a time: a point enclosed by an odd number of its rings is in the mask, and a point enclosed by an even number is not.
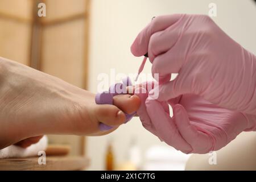
<svg viewBox="0 0 256 182"><path fill-rule="evenodd" d="M117 84L114 84L114 85L110 86L109 91L102 92L102 93L97 93L96 96L95 96L96 104L110 104L110 105L113 105L113 97L118 95L118 94L126 94L126 86L133 85L131 83L131 80L130 80L129 77L123 78L122 82L123 82L123 84L117 83ZM133 118L134 115L135 115L135 113L125 114L125 116L126 116L125 123L130 121L131 118ZM101 131L108 131L112 128L113 128L112 126L108 126L108 125L105 125L104 123L100 123L100 130Z"/></svg>

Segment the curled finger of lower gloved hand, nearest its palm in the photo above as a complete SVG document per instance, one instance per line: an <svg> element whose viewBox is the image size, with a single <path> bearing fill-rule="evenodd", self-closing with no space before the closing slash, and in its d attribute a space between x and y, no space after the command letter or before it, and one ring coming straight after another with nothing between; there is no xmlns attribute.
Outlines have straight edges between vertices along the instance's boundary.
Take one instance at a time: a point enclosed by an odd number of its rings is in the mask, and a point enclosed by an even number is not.
<svg viewBox="0 0 256 182"><path fill-rule="evenodd" d="M206 154L214 149L213 138L191 125L182 105L174 106L174 119L181 136L191 145L193 153Z"/></svg>

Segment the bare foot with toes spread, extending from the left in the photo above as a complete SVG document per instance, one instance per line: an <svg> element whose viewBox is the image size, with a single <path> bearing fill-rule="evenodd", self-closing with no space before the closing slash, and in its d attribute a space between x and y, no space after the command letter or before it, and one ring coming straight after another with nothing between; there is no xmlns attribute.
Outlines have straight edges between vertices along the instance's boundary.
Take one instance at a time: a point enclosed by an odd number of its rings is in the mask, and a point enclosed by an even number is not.
<svg viewBox="0 0 256 182"><path fill-rule="evenodd" d="M44 134L102 135L100 122L115 128L139 108L137 96L97 105L94 94L59 78L0 57L0 149ZM116 106L115 106L116 105Z"/></svg>

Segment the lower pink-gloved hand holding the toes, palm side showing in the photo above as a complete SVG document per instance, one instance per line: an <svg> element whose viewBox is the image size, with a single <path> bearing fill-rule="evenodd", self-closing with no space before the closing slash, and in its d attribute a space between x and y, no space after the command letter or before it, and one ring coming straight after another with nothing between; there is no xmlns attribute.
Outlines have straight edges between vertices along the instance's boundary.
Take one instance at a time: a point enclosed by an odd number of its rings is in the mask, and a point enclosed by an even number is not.
<svg viewBox="0 0 256 182"><path fill-rule="evenodd" d="M150 100L144 88L137 111L142 125L170 146L186 154L219 150L242 131L255 130L255 115L224 109L195 94L184 94L167 101ZM141 92L138 92L141 89ZM170 117L168 104L174 116Z"/></svg>

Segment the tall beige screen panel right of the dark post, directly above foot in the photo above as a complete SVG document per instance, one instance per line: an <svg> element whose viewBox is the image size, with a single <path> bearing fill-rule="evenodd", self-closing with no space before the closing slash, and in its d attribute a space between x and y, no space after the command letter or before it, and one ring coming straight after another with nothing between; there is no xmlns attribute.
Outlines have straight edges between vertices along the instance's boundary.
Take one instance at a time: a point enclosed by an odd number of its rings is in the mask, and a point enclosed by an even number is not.
<svg viewBox="0 0 256 182"><path fill-rule="evenodd" d="M82 88L84 32L84 19L44 27L41 70Z"/></svg>

